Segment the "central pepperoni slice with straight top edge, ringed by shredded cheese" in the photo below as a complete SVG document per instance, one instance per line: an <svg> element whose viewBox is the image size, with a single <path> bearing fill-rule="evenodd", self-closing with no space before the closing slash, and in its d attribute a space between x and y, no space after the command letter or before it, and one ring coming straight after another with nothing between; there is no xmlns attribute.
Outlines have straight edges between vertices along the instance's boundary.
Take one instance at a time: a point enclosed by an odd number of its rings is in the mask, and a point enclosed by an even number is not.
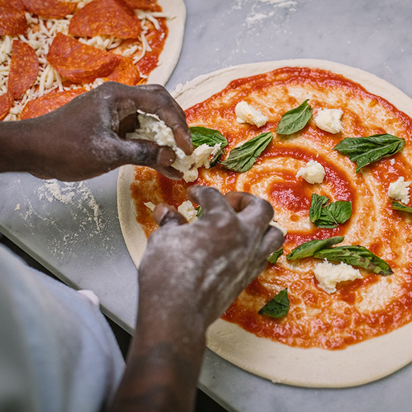
<svg viewBox="0 0 412 412"><path fill-rule="evenodd" d="M54 38L47 60L58 73L75 83L104 78L119 62L115 54L84 45L62 33Z"/></svg>

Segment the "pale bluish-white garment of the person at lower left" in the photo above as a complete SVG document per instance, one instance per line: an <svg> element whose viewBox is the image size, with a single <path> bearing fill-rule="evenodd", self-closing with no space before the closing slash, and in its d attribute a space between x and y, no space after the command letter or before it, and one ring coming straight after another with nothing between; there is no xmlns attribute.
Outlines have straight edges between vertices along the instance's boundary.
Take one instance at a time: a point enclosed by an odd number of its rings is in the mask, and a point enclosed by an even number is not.
<svg viewBox="0 0 412 412"><path fill-rule="evenodd" d="M123 370L98 307L0 247L0 411L101 411Z"/></svg>

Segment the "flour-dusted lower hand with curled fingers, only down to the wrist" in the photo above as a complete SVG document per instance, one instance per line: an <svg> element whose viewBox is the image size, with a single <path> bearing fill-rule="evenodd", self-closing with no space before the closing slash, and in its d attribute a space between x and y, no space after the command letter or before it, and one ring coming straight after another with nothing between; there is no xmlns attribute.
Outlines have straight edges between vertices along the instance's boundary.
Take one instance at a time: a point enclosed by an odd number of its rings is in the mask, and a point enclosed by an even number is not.
<svg viewBox="0 0 412 412"><path fill-rule="evenodd" d="M147 289L163 299L172 294L173 310L196 314L206 328L264 270L284 236L269 225L273 208L262 198L202 186L187 196L203 208L201 218L188 225L172 207L156 207L160 229L148 240L139 286L142 296Z"/></svg>

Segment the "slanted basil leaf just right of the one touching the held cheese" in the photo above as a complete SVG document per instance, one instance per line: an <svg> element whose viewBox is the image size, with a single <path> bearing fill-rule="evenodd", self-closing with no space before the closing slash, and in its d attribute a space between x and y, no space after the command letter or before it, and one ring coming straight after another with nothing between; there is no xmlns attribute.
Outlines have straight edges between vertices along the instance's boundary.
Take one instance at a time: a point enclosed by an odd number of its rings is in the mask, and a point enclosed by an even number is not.
<svg viewBox="0 0 412 412"><path fill-rule="evenodd" d="M234 148L229 153L229 157L221 161L220 164L233 172L247 172L251 170L256 159L260 156L263 150L271 143L273 135L271 132L262 133L253 139L246 141L242 146Z"/></svg>

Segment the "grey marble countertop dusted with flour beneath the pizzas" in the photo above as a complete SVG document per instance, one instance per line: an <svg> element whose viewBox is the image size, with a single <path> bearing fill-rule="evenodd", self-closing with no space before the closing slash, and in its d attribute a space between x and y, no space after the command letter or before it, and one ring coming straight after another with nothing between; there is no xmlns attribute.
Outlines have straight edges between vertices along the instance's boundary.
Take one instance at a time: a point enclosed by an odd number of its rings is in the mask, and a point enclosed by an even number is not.
<svg viewBox="0 0 412 412"><path fill-rule="evenodd" d="M172 91L222 67L319 58L358 67L412 97L409 0L185 0L181 58ZM129 332L135 323L137 271L117 219L117 171L57 183L0 175L0 231L75 288L100 297ZM384 354L382 354L384 356ZM409 411L412 365L369 385L305 389L275 385L207 350L199 387L229 411Z"/></svg>

